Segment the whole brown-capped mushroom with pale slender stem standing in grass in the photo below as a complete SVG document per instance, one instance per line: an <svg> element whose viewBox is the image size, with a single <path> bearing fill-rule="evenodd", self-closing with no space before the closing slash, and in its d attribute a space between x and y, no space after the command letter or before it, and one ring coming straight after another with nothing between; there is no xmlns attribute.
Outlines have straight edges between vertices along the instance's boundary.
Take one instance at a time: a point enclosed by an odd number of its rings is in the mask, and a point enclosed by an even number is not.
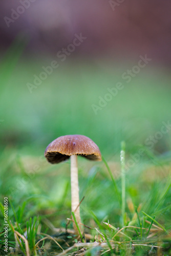
<svg viewBox="0 0 171 256"><path fill-rule="evenodd" d="M94 161L101 161L101 153L98 146L84 135L66 135L53 140L45 150L45 157L48 162L54 164L71 158L71 211L75 213L75 218L80 231L81 226L79 210L79 187L78 187L78 165L77 155L86 157ZM73 223L76 234L79 231Z"/></svg>

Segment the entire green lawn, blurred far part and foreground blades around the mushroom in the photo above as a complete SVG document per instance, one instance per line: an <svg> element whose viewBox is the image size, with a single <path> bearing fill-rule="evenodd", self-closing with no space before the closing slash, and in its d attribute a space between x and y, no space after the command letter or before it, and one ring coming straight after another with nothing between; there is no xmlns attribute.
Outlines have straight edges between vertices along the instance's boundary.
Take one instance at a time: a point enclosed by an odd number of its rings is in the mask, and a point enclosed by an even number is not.
<svg viewBox="0 0 171 256"><path fill-rule="evenodd" d="M128 64L106 62L103 69L70 59L30 94L26 83L49 62L16 64L22 49L14 43L2 66L0 255L4 197L8 255L170 255L170 131L152 148L145 144L169 120L167 74L144 69L95 115L91 105ZM81 239L72 227L69 161L50 165L44 158L48 143L66 134L89 136L103 155L102 162L78 159Z"/></svg>

